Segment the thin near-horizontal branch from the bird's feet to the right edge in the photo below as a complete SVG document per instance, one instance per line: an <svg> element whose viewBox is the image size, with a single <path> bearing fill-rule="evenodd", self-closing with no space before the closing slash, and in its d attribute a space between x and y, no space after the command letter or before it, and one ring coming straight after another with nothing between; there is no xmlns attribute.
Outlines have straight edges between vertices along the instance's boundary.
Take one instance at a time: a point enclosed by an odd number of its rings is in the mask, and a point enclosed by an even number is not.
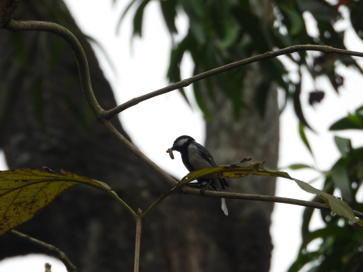
<svg viewBox="0 0 363 272"><path fill-rule="evenodd" d="M180 191L184 194L192 194L192 195L200 196L199 189L183 187L183 189ZM291 204L291 205L298 205L298 206L310 207L310 208L314 208L314 209L331 211L331 209L329 208L329 205L327 205L327 204L306 201L306 200L299 200L299 199L294 199L294 198L275 197L272 195L227 193L227 192L218 192L218 191L211 191L211 190L205 190L204 195L207 197L219 197L219 198L223 197L223 198L231 198L231 199L244 199L244 200L286 203L286 204ZM356 217L363 218L363 213L361 213L359 211L355 211L355 210L353 210L353 213Z"/></svg>

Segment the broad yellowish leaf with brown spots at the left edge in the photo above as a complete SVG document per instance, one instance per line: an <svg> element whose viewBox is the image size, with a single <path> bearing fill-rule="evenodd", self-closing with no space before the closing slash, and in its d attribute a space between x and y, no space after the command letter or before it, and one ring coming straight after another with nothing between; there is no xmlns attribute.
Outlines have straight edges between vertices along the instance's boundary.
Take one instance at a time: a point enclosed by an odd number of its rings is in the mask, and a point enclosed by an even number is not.
<svg viewBox="0 0 363 272"><path fill-rule="evenodd" d="M75 184L96 187L119 199L103 182L61 172L55 174L40 169L0 171L0 235L30 220L37 211Z"/></svg>

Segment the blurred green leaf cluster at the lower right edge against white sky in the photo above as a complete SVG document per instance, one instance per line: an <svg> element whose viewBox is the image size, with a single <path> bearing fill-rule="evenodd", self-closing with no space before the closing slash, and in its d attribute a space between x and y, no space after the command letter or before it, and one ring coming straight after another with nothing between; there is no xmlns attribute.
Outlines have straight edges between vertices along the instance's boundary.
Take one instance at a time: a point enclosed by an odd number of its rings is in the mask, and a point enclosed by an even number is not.
<svg viewBox="0 0 363 272"><path fill-rule="evenodd" d="M342 129L363 129L362 107L330 127L330 130L334 131ZM363 147L353 148L350 139L338 136L335 136L335 144L340 152L340 158L328 172L325 172L323 190L329 194L339 195L353 210L362 210L360 188L363 181ZM310 265L309 271L314 272L362 271L362 228L357 228L348 220L332 216L326 211L320 210L319 213L326 226L312 231L309 226L313 210L305 209L302 225L303 241L298 257L289 272L299 271L304 265ZM309 249L310 244L317 239L320 242L319 246L314 250Z"/></svg>

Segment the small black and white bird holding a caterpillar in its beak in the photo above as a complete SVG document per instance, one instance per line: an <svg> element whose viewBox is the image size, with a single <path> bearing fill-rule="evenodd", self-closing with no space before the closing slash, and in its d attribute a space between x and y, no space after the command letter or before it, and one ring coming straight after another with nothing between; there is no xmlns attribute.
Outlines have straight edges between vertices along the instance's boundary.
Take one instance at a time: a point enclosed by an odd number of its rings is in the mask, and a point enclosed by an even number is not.
<svg viewBox="0 0 363 272"><path fill-rule="evenodd" d="M192 137L183 135L174 141L171 148L172 150L179 151L181 160L189 172L203 169L207 167L217 166L211 153L198 144ZM195 184L194 184L195 185ZM224 178L200 178L196 183L197 187L201 188L200 193L203 194L205 190L211 187L215 191L223 191L224 186L229 187ZM224 198L222 200L222 210L225 215L228 215L228 210Z"/></svg>

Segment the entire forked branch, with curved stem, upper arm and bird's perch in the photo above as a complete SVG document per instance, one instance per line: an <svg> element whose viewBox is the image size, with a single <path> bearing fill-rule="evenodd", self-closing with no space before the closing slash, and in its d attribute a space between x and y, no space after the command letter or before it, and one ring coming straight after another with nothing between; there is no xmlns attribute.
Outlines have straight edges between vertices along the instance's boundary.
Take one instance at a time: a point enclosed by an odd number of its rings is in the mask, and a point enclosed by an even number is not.
<svg viewBox="0 0 363 272"><path fill-rule="evenodd" d="M134 153L140 160L142 160L147 166L149 166L152 170L154 170L160 177L166 180L172 186L177 184L177 181L174 180L170 175L164 172L159 166L157 166L154 162L152 162L148 157L146 157L142 152L139 151L134 145L132 145L121 133L114 128L114 126L108 121L113 116L117 115L119 112L126 110L142 101L153 98L158 95L165 94L167 92L177 90L181 87L186 87L193 82L199 81L201 79L211 77L212 75L216 75L219 73L223 73L227 70L234 69L236 67L240 67L243 65L247 65L256 61L260 61L262 59L270 59L284 54L290 54L298 51L321 51L325 53L336 53L336 54L344 54L351 55L357 57L363 57L362 52L358 51L350 51L344 49L333 48L331 46L326 45L294 45L287 48L279 49L276 51L269 51L264 54L256 55L254 57L242 59L240 61L236 61L230 63L228 65L224 65L204 73L195 75L193 77L184 79L182 81L176 82L170 86L161 88L159 90L150 92L148 94L139 96L137 98L133 98L122 105L119 105L111 110L105 111L101 106L99 106L92 87L90 83L90 75L89 75L89 67L87 63L87 59L85 53L82 49L81 44L77 38L66 28L51 22L41 22L41 21L9 21L7 26L4 26L5 29L11 31L26 31L26 30L40 30L46 31L50 33L57 34L58 36L64 38L66 42L71 46L78 63L79 76L81 78L81 85L83 93L86 97L87 102L89 103L96 119L103 124L103 126L109 131L118 141L120 141L123 145L125 145L132 153ZM196 194L199 195L199 190L185 187L183 189L184 193L188 194ZM273 197L266 195L250 195L250 194L239 194L239 193L226 193L226 192L216 192L216 191L205 191L206 196L211 197L224 197L224 198L234 198L234 199L248 199L248 200L258 200L258 201L270 201L270 202L281 202L281 203L289 203L293 205L301 205L306 207L313 207L317 209L323 209L330 211L329 206L326 204L321 204L317 202L310 201L301 201L298 199L290 199L290 198L281 198L281 197ZM358 211L353 211L356 217L363 218L363 214Z"/></svg>

